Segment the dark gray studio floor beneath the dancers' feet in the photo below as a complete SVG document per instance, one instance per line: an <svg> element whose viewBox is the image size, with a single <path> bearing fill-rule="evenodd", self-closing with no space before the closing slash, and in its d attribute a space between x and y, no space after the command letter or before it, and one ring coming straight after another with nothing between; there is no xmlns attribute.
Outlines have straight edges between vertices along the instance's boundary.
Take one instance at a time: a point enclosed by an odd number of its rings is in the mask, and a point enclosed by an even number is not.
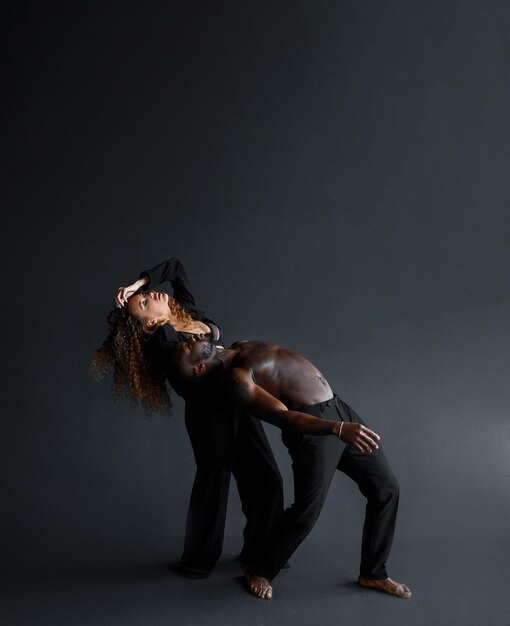
<svg viewBox="0 0 510 626"><path fill-rule="evenodd" d="M399 541L390 575L410 600L355 583L357 546L340 557L312 537L274 581L274 598L249 595L226 542L213 575L188 580L167 564L74 572L3 572L4 626L505 626L510 568L497 546L479 542ZM177 554L173 555L175 559Z"/></svg>

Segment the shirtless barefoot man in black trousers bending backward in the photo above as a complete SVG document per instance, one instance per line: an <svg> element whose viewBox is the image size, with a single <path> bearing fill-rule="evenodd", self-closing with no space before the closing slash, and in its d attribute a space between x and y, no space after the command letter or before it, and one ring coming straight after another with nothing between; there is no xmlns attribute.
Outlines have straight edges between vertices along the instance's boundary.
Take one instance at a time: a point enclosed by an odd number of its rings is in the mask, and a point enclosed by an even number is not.
<svg viewBox="0 0 510 626"><path fill-rule="evenodd" d="M174 358L181 394L227 393L253 416L281 428L292 458L295 501L246 570L250 591L272 597L270 581L312 530L339 469L367 498L358 583L410 598L408 587L389 578L385 567L398 482L379 447L379 435L333 394L319 370L304 357L262 341L236 342L225 350L192 338L177 344Z"/></svg>

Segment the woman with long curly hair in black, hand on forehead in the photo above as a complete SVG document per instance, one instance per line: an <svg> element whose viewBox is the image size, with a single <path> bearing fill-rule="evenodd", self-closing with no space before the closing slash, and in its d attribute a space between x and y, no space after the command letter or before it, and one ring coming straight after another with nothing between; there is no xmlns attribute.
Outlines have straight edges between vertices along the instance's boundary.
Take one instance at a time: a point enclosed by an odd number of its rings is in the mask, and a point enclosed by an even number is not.
<svg viewBox="0 0 510 626"><path fill-rule="evenodd" d="M153 289L169 281L173 296ZM168 413L172 349L191 336L219 345L220 328L198 309L182 263L172 257L119 287L108 315L108 336L96 351L97 377L113 374L117 395L140 401L147 411ZM179 389L175 389L179 392ZM282 478L259 422L240 416L224 399L186 400L186 429L196 462L180 570L209 575L223 547L230 476L246 516L241 560L249 562L283 511Z"/></svg>

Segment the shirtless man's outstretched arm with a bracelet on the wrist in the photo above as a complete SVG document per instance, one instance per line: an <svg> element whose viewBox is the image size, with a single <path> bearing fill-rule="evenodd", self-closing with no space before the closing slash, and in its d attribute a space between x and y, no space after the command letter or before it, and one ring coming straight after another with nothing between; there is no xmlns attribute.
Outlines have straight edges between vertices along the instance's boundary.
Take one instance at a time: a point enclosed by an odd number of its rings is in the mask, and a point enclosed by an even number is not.
<svg viewBox="0 0 510 626"><path fill-rule="evenodd" d="M289 410L283 402L257 385L250 373L243 368L236 367L231 371L229 389L236 404L243 406L254 417L278 428L292 430L302 435L339 436L340 422ZM344 423L341 435L342 441L353 445L361 452L370 452L372 448L378 448L379 435L362 424Z"/></svg>

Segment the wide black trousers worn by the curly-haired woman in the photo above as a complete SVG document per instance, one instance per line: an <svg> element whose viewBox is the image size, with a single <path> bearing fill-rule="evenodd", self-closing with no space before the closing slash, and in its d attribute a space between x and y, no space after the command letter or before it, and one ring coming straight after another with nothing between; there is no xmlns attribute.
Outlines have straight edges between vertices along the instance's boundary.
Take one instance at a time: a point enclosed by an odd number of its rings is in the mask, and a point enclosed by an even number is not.
<svg viewBox="0 0 510 626"><path fill-rule="evenodd" d="M246 524L241 559L249 563L283 512L283 485L259 420L223 401L186 403L186 428L197 464L186 521L181 571L207 576L218 560L233 474Z"/></svg>

